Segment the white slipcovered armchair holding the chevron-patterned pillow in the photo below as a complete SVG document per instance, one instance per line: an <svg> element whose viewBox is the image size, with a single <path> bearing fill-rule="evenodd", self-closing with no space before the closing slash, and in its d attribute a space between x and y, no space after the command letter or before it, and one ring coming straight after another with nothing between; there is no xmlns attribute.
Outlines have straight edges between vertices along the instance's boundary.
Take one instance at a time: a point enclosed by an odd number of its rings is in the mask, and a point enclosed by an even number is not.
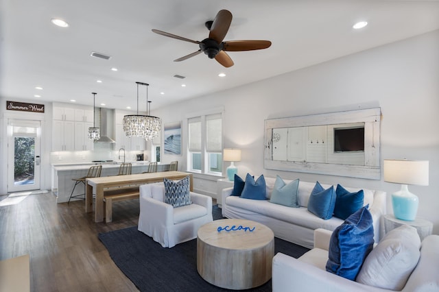
<svg viewBox="0 0 439 292"><path fill-rule="evenodd" d="M191 192L192 204L174 208L164 203L165 186L144 184L140 191L140 215L138 230L151 236L163 247L197 237L200 226L213 221L212 198Z"/></svg>

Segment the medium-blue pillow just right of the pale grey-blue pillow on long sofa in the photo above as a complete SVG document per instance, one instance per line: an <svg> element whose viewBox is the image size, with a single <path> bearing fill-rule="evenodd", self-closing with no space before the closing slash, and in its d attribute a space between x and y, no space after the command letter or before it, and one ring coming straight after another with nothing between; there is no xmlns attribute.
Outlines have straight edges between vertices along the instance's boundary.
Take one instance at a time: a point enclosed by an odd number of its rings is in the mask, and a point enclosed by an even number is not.
<svg viewBox="0 0 439 292"><path fill-rule="evenodd" d="M319 182L316 182L311 195L309 195L309 212L324 220L331 219L334 212L335 197L333 186L325 190Z"/></svg>

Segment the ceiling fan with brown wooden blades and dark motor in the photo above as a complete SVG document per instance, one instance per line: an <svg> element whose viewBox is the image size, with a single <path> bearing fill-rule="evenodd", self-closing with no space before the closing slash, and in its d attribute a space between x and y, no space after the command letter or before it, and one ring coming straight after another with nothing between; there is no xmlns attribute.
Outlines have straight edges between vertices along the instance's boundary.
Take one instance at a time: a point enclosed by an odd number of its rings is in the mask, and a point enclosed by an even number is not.
<svg viewBox="0 0 439 292"><path fill-rule="evenodd" d="M267 49L272 45L270 40L229 40L223 42L224 37L228 32L228 28L230 27L230 23L232 23L232 14L230 11L219 10L213 21L207 21L205 23L210 32L209 38L204 38L202 41L190 40L189 38L183 38L182 36L162 32L158 29L152 29L152 32L161 34L162 36L169 36L169 38L185 40L186 42L193 42L200 45L198 51L189 53L189 55L182 58L178 58L174 60L174 62L187 60L204 52L209 58L215 58L219 64L222 64L225 67L230 67L233 66L233 60L228 56L226 51L252 51L257 49Z"/></svg>

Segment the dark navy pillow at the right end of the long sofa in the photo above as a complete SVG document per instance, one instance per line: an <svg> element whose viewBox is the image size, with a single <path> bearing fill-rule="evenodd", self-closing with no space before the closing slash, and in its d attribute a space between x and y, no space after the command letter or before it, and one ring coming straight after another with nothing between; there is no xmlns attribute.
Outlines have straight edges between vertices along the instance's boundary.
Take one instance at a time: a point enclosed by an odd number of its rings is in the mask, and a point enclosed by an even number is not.
<svg viewBox="0 0 439 292"><path fill-rule="evenodd" d="M346 219L357 212L364 204L363 190L359 190L357 193L349 193L343 186L337 184L335 193L337 199L335 199L334 216L337 218Z"/></svg>

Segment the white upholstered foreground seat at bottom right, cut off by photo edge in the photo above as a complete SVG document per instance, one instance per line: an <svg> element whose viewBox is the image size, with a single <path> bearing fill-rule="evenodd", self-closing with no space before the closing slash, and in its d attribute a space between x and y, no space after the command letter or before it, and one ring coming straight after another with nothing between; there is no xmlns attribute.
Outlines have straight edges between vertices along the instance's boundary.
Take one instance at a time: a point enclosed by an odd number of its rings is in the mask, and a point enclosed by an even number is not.
<svg viewBox="0 0 439 292"><path fill-rule="evenodd" d="M329 273L325 266L328 260L328 230L316 230L315 247L300 258L277 253L272 265L272 289L274 292L351 292L392 291L370 287ZM439 235L427 236L420 247L420 259L402 289L404 292L439 291Z"/></svg>

